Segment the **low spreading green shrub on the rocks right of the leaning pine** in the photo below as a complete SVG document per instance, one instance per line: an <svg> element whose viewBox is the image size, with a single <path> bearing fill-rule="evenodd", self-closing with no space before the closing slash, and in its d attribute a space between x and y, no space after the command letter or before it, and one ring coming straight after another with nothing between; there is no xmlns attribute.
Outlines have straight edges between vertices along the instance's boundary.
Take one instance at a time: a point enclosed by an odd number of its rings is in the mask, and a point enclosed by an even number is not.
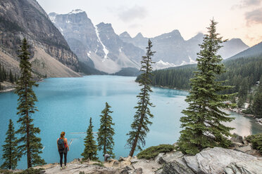
<svg viewBox="0 0 262 174"><path fill-rule="evenodd" d="M158 145L144 149L137 154L138 159L152 159L160 153L171 152L175 149L173 145Z"/></svg>

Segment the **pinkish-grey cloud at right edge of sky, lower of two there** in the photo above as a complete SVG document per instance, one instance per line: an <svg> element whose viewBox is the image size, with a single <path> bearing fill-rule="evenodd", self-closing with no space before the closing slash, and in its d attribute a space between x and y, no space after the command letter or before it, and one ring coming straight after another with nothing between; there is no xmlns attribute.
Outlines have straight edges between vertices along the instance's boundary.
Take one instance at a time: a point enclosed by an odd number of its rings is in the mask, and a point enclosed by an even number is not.
<svg viewBox="0 0 262 174"><path fill-rule="evenodd" d="M262 8L245 13L245 18L247 20L247 26L251 24L262 24Z"/></svg>

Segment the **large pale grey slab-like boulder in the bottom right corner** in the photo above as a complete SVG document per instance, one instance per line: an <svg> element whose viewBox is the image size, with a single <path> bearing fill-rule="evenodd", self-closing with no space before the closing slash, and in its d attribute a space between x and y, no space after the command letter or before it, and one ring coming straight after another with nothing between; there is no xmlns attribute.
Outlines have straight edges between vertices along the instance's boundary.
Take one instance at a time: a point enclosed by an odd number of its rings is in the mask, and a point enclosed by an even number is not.
<svg viewBox="0 0 262 174"><path fill-rule="evenodd" d="M228 173L230 173L230 170L233 172L243 170L246 173L253 173L253 171L259 173L262 171L262 164L256 165L256 168L254 168L252 162L256 161L258 163L260 161L262 163L261 158L221 147L206 148L195 156L184 156L179 152L175 152L164 155L162 159L165 163L162 174L218 174L223 173L225 168L227 168ZM242 173L239 172L239 174Z"/></svg>

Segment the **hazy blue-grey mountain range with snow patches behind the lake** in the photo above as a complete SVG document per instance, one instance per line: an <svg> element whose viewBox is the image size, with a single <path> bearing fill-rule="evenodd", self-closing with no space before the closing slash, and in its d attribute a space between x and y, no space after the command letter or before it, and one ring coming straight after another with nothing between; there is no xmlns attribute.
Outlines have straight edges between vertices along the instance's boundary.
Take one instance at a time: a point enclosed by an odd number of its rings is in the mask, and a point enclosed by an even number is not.
<svg viewBox="0 0 262 174"><path fill-rule="evenodd" d="M68 14L49 13L49 18L61 31L70 48L77 54L80 61L99 69L101 72L116 73L120 69L135 67L139 69L139 61L145 54L149 38L137 34L134 38L127 32L118 36L111 24L104 22L94 26L87 13L74 10ZM156 54L153 60L155 69L175 67L196 63L196 53L204 34L196 34L192 39L185 40L180 32L172 32L150 38ZM241 39L231 39L220 50L223 58L229 58L249 48Z"/></svg>

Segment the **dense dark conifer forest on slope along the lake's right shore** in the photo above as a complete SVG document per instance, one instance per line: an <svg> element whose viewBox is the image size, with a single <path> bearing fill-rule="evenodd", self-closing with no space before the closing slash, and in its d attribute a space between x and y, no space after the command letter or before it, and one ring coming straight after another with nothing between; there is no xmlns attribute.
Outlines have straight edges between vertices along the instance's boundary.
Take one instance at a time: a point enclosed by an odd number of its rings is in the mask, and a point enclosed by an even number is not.
<svg viewBox="0 0 262 174"><path fill-rule="evenodd" d="M256 86L262 75L262 55L253 58L237 58L234 60L224 60L226 72L218 76L218 81L225 81L225 85L234 86L223 93L237 93L238 107L242 107L246 100L253 100L254 91L252 86ZM193 78L196 65L185 65L169 69L154 71L151 76L153 86L166 86L168 88L190 89L189 79ZM137 81L140 76L137 77Z"/></svg>

